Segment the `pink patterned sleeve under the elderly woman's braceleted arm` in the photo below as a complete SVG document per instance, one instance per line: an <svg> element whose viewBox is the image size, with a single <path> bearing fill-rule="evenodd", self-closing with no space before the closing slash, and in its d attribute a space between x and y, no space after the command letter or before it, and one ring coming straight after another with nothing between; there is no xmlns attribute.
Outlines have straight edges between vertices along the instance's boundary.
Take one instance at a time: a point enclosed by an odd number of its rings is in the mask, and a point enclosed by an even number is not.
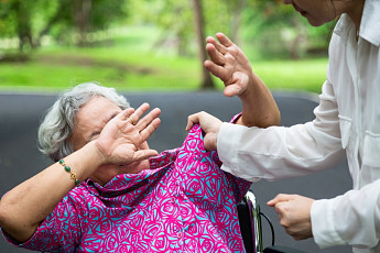
<svg viewBox="0 0 380 253"><path fill-rule="evenodd" d="M79 219L75 206L65 197L39 226L33 237L19 243L2 230L6 240L19 248L43 252L74 252L80 239Z"/></svg>

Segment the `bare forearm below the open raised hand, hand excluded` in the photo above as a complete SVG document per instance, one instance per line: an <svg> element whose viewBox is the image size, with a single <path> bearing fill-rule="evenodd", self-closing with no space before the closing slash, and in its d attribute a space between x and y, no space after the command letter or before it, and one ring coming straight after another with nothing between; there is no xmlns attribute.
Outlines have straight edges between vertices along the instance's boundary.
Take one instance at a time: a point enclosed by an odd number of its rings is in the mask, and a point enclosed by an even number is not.
<svg viewBox="0 0 380 253"><path fill-rule="evenodd" d="M250 76L250 88L239 96L242 102L242 116L237 123L259 128L279 125L281 116L272 94L253 73Z"/></svg>

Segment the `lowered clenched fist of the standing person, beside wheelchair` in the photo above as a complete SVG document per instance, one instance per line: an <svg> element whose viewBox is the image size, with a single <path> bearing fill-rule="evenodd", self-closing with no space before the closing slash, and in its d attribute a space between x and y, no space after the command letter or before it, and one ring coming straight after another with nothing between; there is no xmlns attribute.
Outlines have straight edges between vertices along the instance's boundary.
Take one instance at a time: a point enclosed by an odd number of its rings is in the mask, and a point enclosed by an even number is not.
<svg viewBox="0 0 380 253"><path fill-rule="evenodd" d="M311 209L314 199L300 195L278 195L268 202L279 215L280 224L295 240L313 237Z"/></svg>

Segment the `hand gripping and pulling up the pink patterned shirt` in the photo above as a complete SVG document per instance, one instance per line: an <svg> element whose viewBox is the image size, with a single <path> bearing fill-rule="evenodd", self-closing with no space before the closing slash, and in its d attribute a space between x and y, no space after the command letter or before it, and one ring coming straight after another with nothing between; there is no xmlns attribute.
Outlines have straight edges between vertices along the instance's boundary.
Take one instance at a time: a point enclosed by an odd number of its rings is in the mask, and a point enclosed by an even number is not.
<svg viewBox="0 0 380 253"><path fill-rule="evenodd" d="M221 121L207 112L198 112L187 118L186 131L191 130L193 124L199 124L205 132L204 146L207 151L217 148L217 141Z"/></svg>

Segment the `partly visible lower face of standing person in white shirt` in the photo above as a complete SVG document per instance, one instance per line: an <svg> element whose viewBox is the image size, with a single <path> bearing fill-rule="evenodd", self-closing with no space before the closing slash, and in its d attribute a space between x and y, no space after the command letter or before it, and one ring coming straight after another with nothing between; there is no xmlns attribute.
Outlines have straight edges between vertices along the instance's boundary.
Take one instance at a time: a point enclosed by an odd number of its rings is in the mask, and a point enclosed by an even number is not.
<svg viewBox="0 0 380 253"><path fill-rule="evenodd" d="M293 8L305 16L313 26L319 26L333 21L338 14L333 2L335 0L283 0L285 4L293 4Z"/></svg>

